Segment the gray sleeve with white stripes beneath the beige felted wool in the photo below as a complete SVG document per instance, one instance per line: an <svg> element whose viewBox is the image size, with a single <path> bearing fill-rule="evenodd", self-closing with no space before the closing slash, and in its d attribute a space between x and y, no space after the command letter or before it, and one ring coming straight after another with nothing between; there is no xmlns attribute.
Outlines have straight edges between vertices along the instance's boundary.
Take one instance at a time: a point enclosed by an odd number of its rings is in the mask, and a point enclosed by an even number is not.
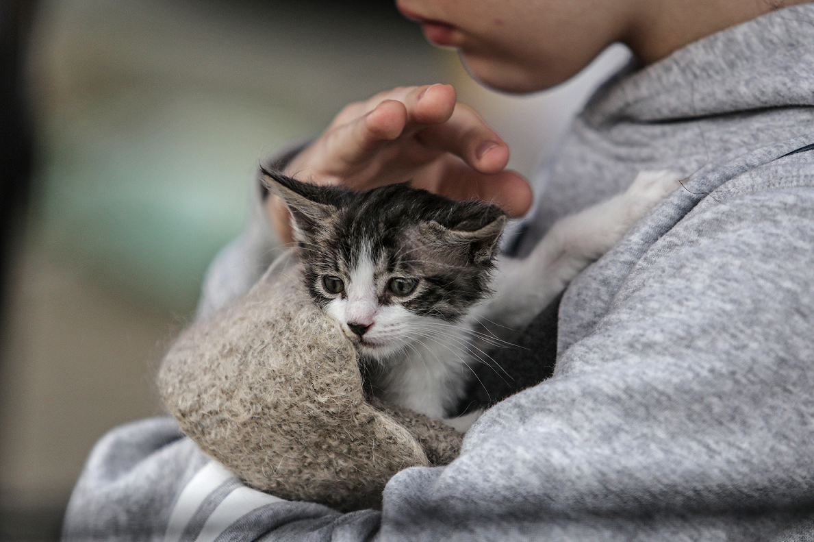
<svg viewBox="0 0 814 542"><path fill-rule="evenodd" d="M343 515L246 487L172 418L156 417L99 440L72 492L62 540L367 540L378 525L373 510Z"/></svg>

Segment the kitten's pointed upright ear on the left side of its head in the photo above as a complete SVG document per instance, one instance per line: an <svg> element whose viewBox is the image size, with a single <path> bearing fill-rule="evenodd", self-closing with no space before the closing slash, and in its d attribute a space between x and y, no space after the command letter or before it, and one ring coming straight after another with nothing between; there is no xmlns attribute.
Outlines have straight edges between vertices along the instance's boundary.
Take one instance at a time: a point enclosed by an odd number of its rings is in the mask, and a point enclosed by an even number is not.
<svg viewBox="0 0 814 542"><path fill-rule="evenodd" d="M336 213L336 208L320 197L320 187L264 167L260 167L260 174L269 192L280 196L291 212L295 234L299 231L307 236Z"/></svg>

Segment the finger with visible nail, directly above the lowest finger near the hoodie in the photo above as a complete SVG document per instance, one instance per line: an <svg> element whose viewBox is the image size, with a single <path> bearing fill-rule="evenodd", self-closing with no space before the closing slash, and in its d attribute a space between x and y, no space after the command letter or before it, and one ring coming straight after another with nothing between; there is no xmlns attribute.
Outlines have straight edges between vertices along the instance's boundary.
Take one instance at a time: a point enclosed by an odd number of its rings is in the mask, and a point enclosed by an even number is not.
<svg viewBox="0 0 814 542"><path fill-rule="evenodd" d="M455 105L449 120L427 126L415 137L428 148L458 156L480 173L497 173L509 162L509 146L464 104Z"/></svg>

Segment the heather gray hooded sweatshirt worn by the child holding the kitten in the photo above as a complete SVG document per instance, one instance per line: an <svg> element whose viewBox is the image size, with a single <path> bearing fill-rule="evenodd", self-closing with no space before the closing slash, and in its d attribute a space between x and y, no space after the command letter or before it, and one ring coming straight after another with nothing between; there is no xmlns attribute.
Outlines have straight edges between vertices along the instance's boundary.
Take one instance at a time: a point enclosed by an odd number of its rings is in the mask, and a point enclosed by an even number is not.
<svg viewBox="0 0 814 542"><path fill-rule="evenodd" d="M397 474L381 513L236 489L243 516L197 540L814 539L814 152L781 157L814 142L812 43L814 6L791 7L597 93L519 253L638 170L686 189L571 284L554 377L486 412L459 459ZM227 518L225 478L182 492L204 463L171 421L114 431L66 539L164 540L182 497L190 521Z"/></svg>

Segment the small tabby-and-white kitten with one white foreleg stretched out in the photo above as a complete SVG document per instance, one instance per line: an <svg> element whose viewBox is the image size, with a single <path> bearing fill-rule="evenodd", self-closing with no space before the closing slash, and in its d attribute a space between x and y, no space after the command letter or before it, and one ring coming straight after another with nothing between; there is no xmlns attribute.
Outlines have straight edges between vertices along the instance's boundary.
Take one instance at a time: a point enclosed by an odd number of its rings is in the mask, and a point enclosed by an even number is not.
<svg viewBox="0 0 814 542"><path fill-rule="evenodd" d="M627 192L559 221L529 258L501 260L505 213L406 183L353 192L263 170L291 211L305 287L356 346L369 390L427 416L455 412L486 345L527 324L610 249L679 176L640 174ZM488 328L487 328L488 327ZM490 342L487 339L487 342Z"/></svg>

